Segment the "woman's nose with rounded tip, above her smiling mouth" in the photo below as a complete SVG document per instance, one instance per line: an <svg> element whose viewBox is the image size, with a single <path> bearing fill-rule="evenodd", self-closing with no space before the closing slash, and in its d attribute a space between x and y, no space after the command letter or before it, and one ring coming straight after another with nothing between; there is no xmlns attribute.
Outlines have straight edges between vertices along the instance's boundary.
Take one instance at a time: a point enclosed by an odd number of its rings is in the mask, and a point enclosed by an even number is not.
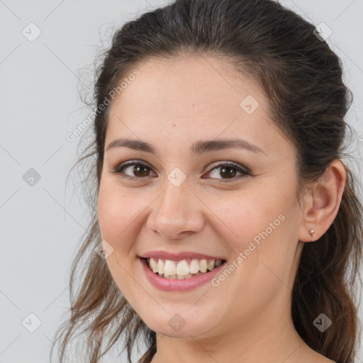
<svg viewBox="0 0 363 363"><path fill-rule="evenodd" d="M186 182L174 186L166 181L164 192L152 203L147 228L167 240L179 240L199 232L204 225L203 203Z"/></svg>

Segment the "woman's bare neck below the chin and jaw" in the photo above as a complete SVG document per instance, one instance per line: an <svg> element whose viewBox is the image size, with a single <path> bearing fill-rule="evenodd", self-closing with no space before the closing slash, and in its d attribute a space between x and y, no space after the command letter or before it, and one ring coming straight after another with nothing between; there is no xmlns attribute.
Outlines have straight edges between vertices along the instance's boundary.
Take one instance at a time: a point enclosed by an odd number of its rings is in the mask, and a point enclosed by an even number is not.
<svg viewBox="0 0 363 363"><path fill-rule="evenodd" d="M190 335L190 339L179 339L157 333L157 353L151 362L302 363L323 358L303 342L292 321L281 323L276 319L269 326L263 320L250 323L213 338Z"/></svg>

